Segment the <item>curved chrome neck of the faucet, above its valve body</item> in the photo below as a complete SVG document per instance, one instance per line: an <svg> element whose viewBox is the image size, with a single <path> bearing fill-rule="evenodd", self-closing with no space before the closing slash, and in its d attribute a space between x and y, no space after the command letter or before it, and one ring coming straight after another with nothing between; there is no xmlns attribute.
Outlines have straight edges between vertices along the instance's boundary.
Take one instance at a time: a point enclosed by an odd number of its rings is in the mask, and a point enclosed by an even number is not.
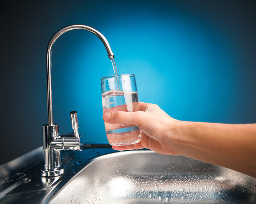
<svg viewBox="0 0 256 204"><path fill-rule="evenodd" d="M99 37L99 39L102 41L102 43L105 46L105 49L108 52L108 57L112 60L114 59L114 53L111 50L111 47L108 43L108 40L104 37L103 34L101 34L99 31L97 31L96 29L90 27L90 26L85 26L85 25L71 25L71 26L66 26L63 29L60 29L58 32L56 32L51 40L49 41L49 44L47 46L47 52L46 52L46 58L47 58L47 67L46 67L46 72L47 72L47 110L48 110L48 124L49 125L53 125L53 118L52 118L52 73L51 73L51 67L52 67L52 60L51 60L51 56L52 56L52 47L55 43L55 41L58 39L58 37L60 37L62 34L64 34L67 31L70 30L75 30L75 29L83 29L83 30L87 30L92 32L93 34L95 34L96 36Z"/></svg>

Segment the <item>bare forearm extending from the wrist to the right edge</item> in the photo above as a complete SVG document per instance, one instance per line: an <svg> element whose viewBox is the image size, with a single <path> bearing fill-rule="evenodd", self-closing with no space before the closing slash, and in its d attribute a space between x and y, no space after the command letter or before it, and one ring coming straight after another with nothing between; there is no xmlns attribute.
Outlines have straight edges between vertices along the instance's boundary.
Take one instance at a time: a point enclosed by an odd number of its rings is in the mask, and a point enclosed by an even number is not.
<svg viewBox="0 0 256 204"><path fill-rule="evenodd" d="M256 177L256 124L181 122L177 152Z"/></svg>

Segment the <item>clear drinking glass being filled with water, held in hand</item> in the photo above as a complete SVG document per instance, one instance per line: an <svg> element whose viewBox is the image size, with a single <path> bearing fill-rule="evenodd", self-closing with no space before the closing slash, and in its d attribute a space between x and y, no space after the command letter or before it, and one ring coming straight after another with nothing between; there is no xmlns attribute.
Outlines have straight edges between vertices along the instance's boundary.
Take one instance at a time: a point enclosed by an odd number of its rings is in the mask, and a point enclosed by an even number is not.
<svg viewBox="0 0 256 204"><path fill-rule="evenodd" d="M101 78L103 113L139 111L135 75L117 75ZM135 144L140 141L141 130L133 124L105 122L108 142L114 146Z"/></svg>

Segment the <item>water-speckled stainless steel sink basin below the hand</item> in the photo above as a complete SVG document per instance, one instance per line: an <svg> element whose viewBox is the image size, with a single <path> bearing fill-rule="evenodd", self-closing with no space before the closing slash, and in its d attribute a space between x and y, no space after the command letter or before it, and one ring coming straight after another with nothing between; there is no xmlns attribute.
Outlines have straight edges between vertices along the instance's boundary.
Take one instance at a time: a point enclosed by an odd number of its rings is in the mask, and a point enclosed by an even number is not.
<svg viewBox="0 0 256 204"><path fill-rule="evenodd" d="M150 150L98 156L50 204L256 203L256 178Z"/></svg>

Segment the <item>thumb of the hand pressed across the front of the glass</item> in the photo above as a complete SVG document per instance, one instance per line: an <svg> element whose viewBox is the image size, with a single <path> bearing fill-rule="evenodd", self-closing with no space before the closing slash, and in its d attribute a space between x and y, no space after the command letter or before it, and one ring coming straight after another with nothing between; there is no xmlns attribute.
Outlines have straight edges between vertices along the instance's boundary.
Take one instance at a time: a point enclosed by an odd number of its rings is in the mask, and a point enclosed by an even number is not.
<svg viewBox="0 0 256 204"><path fill-rule="evenodd" d="M111 124L130 123L130 124L138 125L137 114L139 114L139 112L125 112L125 111L106 112L103 114L102 118L105 122L111 123Z"/></svg>

